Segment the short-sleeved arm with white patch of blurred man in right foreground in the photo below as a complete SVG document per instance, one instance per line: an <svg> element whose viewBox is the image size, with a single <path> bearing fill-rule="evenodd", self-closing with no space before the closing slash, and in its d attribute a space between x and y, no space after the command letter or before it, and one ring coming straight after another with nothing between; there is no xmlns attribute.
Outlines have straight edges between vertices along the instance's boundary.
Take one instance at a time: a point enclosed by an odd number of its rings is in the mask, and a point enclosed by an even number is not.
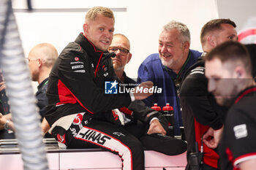
<svg viewBox="0 0 256 170"><path fill-rule="evenodd" d="M245 96L246 98L248 96ZM227 114L225 121L225 139L227 139L228 147L233 155L233 166L243 169L255 169L256 164L256 109L253 106L255 100L247 100L246 104L240 107L231 108ZM243 106L244 108L241 108ZM246 107L248 106L248 107ZM253 107L252 107L253 106ZM252 165L249 168L249 165Z"/></svg>

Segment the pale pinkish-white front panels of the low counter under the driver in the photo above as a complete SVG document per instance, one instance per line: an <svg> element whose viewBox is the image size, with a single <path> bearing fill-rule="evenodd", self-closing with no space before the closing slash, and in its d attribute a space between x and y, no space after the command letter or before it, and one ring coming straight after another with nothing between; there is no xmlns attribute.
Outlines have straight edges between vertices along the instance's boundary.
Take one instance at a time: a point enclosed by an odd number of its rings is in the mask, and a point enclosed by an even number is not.
<svg viewBox="0 0 256 170"><path fill-rule="evenodd" d="M48 153L50 170L56 169L121 169L121 158L110 152L57 152ZM159 152L145 151L146 170L184 170L187 164L186 152L168 156ZM60 163L60 164L59 164ZM60 166L60 167L59 167ZM0 167L4 170L23 170L20 154L0 155Z"/></svg>

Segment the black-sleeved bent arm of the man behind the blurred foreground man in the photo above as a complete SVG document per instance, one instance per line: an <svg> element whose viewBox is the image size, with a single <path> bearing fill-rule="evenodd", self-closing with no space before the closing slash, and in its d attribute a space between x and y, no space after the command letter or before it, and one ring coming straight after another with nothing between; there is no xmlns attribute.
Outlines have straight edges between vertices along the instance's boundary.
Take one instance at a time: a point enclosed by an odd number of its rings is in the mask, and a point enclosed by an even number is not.
<svg viewBox="0 0 256 170"><path fill-rule="evenodd" d="M222 128L222 109L214 104L214 96L209 96L207 80L203 74L192 74L186 77L181 85L181 100L185 100L192 109L198 123L209 125L214 130ZM213 105L214 104L214 105Z"/></svg>

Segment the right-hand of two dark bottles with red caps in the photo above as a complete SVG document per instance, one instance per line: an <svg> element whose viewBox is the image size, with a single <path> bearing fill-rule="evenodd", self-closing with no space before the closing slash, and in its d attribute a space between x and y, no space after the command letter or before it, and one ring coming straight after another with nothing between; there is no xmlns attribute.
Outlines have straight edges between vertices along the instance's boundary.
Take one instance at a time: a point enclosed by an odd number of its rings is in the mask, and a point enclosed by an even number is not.
<svg viewBox="0 0 256 170"><path fill-rule="evenodd" d="M166 117L168 121L168 131L167 136L174 137L174 112L173 107L170 106L170 104L166 104L165 107L162 107L162 111L164 112L164 116Z"/></svg>

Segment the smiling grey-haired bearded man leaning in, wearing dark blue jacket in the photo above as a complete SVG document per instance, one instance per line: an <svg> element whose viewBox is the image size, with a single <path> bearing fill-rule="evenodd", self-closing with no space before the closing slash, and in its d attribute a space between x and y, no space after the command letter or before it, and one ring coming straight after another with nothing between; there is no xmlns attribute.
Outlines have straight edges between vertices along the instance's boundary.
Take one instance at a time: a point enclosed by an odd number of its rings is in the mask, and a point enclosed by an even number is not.
<svg viewBox="0 0 256 170"><path fill-rule="evenodd" d="M138 82L152 81L154 86L162 88L162 93L154 93L143 100L148 107L167 103L174 111L174 134L180 135L181 107L178 91L184 72L192 66L201 53L189 50L190 33L184 23L175 20L163 26L159 35L159 53L148 56L138 69Z"/></svg>

